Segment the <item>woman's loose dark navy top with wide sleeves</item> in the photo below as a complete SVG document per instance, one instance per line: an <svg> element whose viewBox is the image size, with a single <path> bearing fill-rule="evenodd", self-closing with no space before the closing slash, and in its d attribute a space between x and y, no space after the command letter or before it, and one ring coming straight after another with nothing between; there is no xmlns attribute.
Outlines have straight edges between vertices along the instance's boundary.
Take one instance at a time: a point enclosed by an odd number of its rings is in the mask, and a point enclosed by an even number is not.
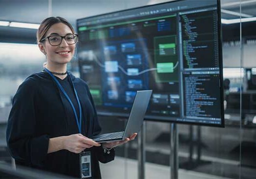
<svg viewBox="0 0 256 179"><path fill-rule="evenodd" d="M85 81L70 74L83 109L82 134L88 138L101 132L93 99ZM49 74L40 72L28 77L13 99L7 124L6 139L9 152L17 164L55 173L80 177L79 154L67 150L47 154L49 138L67 136L70 105ZM73 125L76 125L73 119ZM79 133L78 130L75 133ZM104 153L102 147L92 147L92 178L100 179L99 162L114 159L114 151Z"/></svg>

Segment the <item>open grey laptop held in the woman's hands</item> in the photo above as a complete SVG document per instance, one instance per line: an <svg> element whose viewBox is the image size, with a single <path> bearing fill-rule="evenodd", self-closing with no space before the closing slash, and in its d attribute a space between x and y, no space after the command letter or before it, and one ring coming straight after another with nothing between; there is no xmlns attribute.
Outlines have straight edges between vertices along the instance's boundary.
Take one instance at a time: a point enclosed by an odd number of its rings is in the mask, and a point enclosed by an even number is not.
<svg viewBox="0 0 256 179"><path fill-rule="evenodd" d="M152 90L137 91L133 101L125 131L94 136L96 142L119 141L129 138L133 133L140 132L143 119L149 105Z"/></svg>

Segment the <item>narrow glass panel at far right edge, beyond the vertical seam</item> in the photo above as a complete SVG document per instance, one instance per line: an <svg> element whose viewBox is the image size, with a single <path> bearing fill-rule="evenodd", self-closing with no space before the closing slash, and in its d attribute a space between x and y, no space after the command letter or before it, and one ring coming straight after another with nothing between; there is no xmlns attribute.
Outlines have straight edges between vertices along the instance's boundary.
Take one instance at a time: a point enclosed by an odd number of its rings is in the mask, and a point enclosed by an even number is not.
<svg viewBox="0 0 256 179"><path fill-rule="evenodd" d="M241 179L256 176L256 1L241 1Z"/></svg>

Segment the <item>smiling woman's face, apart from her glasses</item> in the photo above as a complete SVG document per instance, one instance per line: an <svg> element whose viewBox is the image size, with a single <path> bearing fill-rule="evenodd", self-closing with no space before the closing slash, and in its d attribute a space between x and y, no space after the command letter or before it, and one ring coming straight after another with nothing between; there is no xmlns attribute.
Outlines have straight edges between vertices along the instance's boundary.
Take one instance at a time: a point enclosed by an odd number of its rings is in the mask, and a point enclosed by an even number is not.
<svg viewBox="0 0 256 179"><path fill-rule="evenodd" d="M51 35L65 36L67 34L73 34L71 29L64 23L56 23L49 28L45 34L45 37ZM40 49L42 50L43 48L44 52L46 53L48 63L68 63L75 53L76 44L69 45L64 38L62 39L61 44L58 46L52 46L48 39L43 43L44 44L40 47Z"/></svg>

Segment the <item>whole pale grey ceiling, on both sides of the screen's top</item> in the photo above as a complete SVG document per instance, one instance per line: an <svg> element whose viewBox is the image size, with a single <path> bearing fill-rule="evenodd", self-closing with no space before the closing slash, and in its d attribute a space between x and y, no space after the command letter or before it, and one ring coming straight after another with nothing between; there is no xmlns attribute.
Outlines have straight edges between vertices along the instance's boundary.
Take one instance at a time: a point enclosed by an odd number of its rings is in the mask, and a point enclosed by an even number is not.
<svg viewBox="0 0 256 179"><path fill-rule="evenodd" d="M40 23L51 15L64 17L75 26L76 20L84 17L164 1L168 0L0 0L0 20ZM222 9L239 13L240 1L243 14L256 16L256 0L221 0ZM222 13L222 18L238 16Z"/></svg>

